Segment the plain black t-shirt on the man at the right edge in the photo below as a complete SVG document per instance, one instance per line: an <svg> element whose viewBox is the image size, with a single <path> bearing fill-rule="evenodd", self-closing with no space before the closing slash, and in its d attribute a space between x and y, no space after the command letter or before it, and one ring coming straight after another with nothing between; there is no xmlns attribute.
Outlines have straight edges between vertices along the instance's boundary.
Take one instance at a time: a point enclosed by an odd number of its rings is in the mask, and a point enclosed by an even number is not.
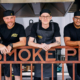
<svg viewBox="0 0 80 80"><path fill-rule="evenodd" d="M75 28L74 24L70 23L64 28L64 37L70 37L71 41L80 40L80 29Z"/></svg>

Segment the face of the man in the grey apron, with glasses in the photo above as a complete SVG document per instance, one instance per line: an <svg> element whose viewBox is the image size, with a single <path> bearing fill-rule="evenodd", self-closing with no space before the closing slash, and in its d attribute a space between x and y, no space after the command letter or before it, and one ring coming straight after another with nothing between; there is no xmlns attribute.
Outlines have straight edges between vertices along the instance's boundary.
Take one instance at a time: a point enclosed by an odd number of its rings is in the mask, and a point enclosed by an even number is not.
<svg viewBox="0 0 80 80"><path fill-rule="evenodd" d="M39 17L39 19L41 20L42 24L49 24L50 20L52 19L52 16L50 16L50 14L48 13L42 13L41 16Z"/></svg>

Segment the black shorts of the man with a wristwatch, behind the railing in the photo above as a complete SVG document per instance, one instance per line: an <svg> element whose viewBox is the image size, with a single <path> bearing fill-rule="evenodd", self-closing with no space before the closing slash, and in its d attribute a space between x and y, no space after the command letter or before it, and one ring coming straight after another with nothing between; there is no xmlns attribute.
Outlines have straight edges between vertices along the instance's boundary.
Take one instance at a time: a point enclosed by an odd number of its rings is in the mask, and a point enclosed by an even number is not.
<svg viewBox="0 0 80 80"><path fill-rule="evenodd" d="M11 56L7 55L6 58L7 61L14 61L14 54ZM3 67L4 67L4 75L10 77L10 64L3 64ZM12 69L13 69L14 76L20 76L20 64L12 64Z"/></svg>

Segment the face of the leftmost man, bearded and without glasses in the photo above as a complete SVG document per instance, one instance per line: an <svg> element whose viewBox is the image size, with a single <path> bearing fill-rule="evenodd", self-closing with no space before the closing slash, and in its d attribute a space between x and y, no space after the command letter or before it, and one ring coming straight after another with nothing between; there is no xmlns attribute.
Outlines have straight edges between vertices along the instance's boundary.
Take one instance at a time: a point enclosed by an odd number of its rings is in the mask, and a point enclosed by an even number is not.
<svg viewBox="0 0 80 80"><path fill-rule="evenodd" d="M8 27L12 27L15 24L15 16L6 16L6 17L3 17L3 20Z"/></svg>

